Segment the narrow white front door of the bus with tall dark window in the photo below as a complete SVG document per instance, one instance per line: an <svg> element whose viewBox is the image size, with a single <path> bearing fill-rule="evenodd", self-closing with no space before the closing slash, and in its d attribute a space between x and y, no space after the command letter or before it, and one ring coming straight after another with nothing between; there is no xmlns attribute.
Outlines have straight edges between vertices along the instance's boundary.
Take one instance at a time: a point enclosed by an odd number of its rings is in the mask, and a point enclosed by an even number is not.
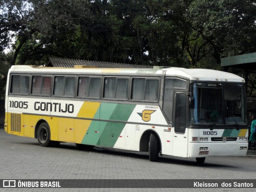
<svg viewBox="0 0 256 192"><path fill-rule="evenodd" d="M188 130L186 130L187 95L185 91L175 91L173 155L188 157Z"/></svg>

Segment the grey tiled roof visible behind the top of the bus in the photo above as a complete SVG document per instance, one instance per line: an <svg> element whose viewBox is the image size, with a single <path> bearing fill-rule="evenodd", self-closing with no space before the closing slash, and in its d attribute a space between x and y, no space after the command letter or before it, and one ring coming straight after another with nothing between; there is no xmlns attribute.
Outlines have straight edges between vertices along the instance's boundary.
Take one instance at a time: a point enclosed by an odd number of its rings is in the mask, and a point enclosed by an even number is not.
<svg viewBox="0 0 256 192"><path fill-rule="evenodd" d="M87 61L78 59L66 59L66 58L54 58L51 57L50 61L46 65L47 67L74 67L74 66L95 66L98 68L153 68L148 65L135 65L135 64L123 64L123 63L110 63L100 61Z"/></svg>

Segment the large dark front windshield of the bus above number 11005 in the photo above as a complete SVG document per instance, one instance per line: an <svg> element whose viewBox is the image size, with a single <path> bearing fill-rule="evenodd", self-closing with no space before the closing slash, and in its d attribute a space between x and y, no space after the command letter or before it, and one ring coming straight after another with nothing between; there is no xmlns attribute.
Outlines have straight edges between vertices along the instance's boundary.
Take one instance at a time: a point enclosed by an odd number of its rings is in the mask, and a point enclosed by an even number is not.
<svg viewBox="0 0 256 192"><path fill-rule="evenodd" d="M191 124L246 125L243 84L192 83L190 90Z"/></svg>

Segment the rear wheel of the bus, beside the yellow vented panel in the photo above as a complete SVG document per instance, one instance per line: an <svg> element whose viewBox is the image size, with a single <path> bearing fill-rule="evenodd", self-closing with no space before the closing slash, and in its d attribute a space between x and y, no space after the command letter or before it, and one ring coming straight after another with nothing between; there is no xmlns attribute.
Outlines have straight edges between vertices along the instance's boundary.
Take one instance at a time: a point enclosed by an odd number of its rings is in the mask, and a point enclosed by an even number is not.
<svg viewBox="0 0 256 192"><path fill-rule="evenodd" d="M37 130L37 140L42 147L54 146L54 142L50 140L50 127L47 123L41 123ZM57 142L56 142L57 144Z"/></svg>

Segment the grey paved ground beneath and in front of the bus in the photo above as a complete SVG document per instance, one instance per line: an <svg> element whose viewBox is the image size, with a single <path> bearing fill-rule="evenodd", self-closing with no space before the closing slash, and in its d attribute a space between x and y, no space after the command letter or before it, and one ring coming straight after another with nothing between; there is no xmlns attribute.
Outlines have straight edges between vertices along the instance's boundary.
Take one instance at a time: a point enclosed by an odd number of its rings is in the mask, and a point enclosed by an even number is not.
<svg viewBox="0 0 256 192"><path fill-rule="evenodd" d="M116 149L79 150L74 144L44 148L34 138L7 134L0 129L0 179L254 179L256 150L246 157L211 157L203 165L195 158L160 156L150 162L147 153ZM246 191L251 188L0 188L2 191Z"/></svg>

